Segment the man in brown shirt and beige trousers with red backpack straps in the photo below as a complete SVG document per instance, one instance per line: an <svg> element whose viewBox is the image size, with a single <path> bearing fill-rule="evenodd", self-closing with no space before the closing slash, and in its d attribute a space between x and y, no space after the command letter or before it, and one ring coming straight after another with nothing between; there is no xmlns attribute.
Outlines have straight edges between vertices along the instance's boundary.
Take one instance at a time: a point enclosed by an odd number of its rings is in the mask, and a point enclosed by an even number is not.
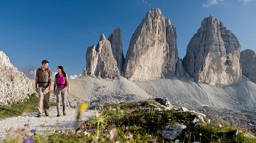
<svg viewBox="0 0 256 143"><path fill-rule="evenodd" d="M45 115L49 116L50 91L52 90L52 74L51 70L48 68L49 62L43 60L41 64L42 67L37 69L35 77L35 91L38 93L38 118L40 118L43 113L43 107Z"/></svg>

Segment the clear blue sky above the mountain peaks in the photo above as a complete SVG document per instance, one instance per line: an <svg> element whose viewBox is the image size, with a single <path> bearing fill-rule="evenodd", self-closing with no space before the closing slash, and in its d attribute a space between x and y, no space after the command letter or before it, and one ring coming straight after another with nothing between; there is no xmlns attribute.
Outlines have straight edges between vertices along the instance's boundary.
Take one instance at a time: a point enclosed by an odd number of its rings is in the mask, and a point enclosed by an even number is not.
<svg viewBox="0 0 256 143"><path fill-rule="evenodd" d="M126 55L133 32L152 7L176 27L179 58L209 15L232 30L242 50L256 51L256 0L0 0L0 50L25 74L48 59L53 73L63 65L69 76L79 75L87 47L96 45L101 33L108 37L121 28Z"/></svg>

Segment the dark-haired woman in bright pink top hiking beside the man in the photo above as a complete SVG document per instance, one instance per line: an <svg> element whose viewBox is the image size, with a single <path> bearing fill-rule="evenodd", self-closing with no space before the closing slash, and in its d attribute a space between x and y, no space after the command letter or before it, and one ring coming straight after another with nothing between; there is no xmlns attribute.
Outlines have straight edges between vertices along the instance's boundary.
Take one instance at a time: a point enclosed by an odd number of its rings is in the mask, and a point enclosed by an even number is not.
<svg viewBox="0 0 256 143"><path fill-rule="evenodd" d="M54 80L54 95L56 95L57 103L57 117L60 116L60 95L62 96L62 110L63 115L66 115L66 94L70 92L70 86L68 82L68 75L66 75L63 67L60 65L57 67L58 73L55 75ZM57 88L56 88L57 87Z"/></svg>

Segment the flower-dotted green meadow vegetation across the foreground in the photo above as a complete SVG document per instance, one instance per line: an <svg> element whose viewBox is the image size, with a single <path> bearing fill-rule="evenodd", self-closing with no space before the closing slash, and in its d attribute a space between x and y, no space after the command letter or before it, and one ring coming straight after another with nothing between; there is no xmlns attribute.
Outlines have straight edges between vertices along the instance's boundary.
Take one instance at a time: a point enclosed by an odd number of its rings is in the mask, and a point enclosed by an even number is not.
<svg viewBox="0 0 256 143"><path fill-rule="evenodd" d="M163 108L152 101L121 102L108 104L95 118L85 121L76 131L56 131L51 135L23 136L23 139L35 142L174 142L160 135L159 130L165 125L186 125L177 138L180 142L256 142L247 138L244 133L237 133L237 128L227 124L212 121L195 127L196 115L190 111L155 110ZM222 127L215 127L221 124ZM252 135L256 135L252 133ZM23 134L26 135L26 134ZM13 141L16 141L14 139ZM5 142L12 140L5 140Z"/></svg>

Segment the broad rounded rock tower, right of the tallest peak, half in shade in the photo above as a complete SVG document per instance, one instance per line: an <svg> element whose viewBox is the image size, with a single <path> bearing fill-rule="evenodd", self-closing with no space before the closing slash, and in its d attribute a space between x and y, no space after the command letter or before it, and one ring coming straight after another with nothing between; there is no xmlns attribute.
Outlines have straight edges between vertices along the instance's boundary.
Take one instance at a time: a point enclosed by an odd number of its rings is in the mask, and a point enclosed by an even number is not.
<svg viewBox="0 0 256 143"><path fill-rule="evenodd" d="M230 85L241 78L240 49L236 36L209 16L191 38L182 64L196 82Z"/></svg>

